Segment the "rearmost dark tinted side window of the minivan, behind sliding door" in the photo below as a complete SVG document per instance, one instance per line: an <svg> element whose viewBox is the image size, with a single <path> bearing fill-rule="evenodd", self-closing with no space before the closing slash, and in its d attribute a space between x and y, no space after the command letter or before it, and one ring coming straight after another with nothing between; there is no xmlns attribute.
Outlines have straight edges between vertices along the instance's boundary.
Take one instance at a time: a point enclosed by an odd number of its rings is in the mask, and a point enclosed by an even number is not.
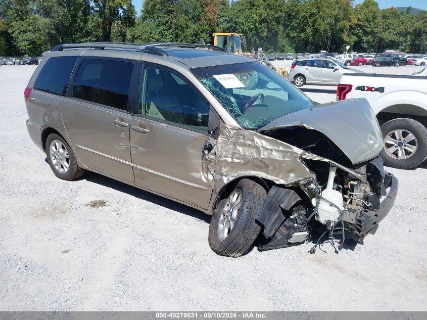
<svg viewBox="0 0 427 320"><path fill-rule="evenodd" d="M65 96L71 72L78 57L53 57L48 59L38 74L34 88Z"/></svg>

